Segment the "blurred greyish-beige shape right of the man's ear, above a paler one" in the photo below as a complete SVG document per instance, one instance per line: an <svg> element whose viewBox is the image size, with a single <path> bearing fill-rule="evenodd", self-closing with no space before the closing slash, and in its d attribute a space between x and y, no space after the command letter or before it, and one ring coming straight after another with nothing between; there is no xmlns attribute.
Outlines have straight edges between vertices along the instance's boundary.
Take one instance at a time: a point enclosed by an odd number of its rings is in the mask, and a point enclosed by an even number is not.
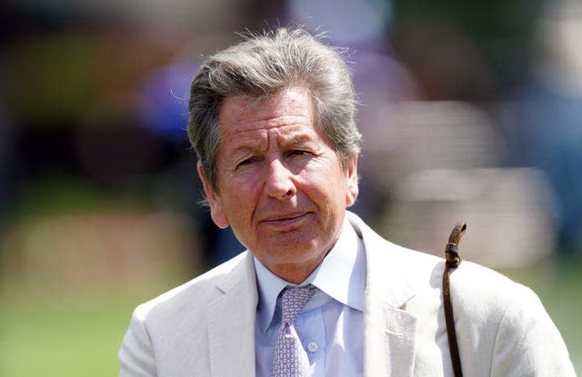
<svg viewBox="0 0 582 377"><path fill-rule="evenodd" d="M487 114L460 102L386 104L363 124L366 179L386 190L426 169L497 166L497 140Z"/></svg>

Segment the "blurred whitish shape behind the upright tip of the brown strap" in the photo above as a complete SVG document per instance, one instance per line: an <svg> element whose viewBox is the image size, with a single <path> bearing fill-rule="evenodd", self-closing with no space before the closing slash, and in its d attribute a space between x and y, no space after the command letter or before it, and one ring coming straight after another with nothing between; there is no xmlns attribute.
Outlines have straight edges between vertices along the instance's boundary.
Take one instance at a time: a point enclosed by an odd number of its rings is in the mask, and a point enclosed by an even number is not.
<svg viewBox="0 0 582 377"><path fill-rule="evenodd" d="M442 256L448 233L465 221L464 259L519 267L553 252L553 203L536 169L426 170L397 184L396 205L382 230L398 243Z"/></svg>

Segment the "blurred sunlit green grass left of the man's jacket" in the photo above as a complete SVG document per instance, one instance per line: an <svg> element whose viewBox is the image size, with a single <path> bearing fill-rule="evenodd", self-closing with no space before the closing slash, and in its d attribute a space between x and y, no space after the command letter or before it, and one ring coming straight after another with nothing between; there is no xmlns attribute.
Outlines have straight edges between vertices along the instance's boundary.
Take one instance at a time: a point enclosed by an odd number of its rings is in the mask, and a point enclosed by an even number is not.
<svg viewBox="0 0 582 377"><path fill-rule="evenodd" d="M0 310L0 376L116 376L117 351L135 305L174 284L115 297L12 290Z"/></svg>

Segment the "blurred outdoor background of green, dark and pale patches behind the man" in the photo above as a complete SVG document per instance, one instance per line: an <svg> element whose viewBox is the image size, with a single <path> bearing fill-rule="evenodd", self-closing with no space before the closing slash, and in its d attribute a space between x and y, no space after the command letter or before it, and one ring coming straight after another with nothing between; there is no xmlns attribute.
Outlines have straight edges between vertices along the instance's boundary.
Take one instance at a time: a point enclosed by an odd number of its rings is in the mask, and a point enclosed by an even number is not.
<svg viewBox="0 0 582 377"><path fill-rule="evenodd" d="M540 296L582 371L582 5L575 0L7 0L0 5L0 375L104 376L135 305L243 248L199 205L201 60L305 25L362 106L353 208L389 240Z"/></svg>

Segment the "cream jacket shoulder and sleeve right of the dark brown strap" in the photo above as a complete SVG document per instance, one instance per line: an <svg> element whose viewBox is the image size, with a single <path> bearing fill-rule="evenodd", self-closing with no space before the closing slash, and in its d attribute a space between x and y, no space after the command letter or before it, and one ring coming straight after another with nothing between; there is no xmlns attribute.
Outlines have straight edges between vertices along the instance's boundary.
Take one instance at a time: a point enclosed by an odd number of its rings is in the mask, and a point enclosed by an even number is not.
<svg viewBox="0 0 582 377"><path fill-rule="evenodd" d="M491 350L492 375L576 375L561 334L527 286L464 262L451 274L451 297L459 344L477 361Z"/></svg>

